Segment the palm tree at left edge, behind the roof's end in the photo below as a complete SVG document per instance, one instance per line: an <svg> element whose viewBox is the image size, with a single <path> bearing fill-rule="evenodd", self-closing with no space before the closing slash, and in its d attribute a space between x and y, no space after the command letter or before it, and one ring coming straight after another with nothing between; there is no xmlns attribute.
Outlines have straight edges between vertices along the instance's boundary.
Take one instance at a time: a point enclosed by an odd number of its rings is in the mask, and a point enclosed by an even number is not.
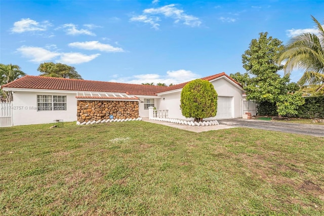
<svg viewBox="0 0 324 216"><path fill-rule="evenodd" d="M0 85L5 85L14 80L17 80L20 77L25 76L26 74L21 70L21 68L16 64L1 64L0 63ZM3 91L1 93L5 96L7 102L13 100L11 91Z"/></svg>

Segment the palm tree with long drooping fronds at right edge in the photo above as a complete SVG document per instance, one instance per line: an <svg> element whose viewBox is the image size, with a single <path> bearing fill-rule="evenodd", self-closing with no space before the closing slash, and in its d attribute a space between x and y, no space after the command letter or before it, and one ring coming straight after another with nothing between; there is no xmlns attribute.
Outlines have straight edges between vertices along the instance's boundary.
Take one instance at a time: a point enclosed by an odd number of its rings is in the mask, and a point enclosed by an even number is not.
<svg viewBox="0 0 324 216"><path fill-rule="evenodd" d="M298 81L300 85L320 85L324 87L324 29L311 16L318 28L318 35L303 33L294 37L285 50L279 54L278 63L285 62L285 74L293 69L304 69L304 75Z"/></svg>

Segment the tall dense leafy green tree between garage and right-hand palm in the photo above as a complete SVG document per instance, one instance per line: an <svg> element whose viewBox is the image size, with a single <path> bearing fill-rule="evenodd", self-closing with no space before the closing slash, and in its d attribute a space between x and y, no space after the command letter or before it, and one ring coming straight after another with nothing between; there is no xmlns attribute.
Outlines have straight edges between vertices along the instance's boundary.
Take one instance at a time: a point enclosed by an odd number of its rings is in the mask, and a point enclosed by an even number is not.
<svg viewBox="0 0 324 216"><path fill-rule="evenodd" d="M281 41L268 37L268 33L259 33L259 39L253 39L242 55L243 67L251 76L244 88L247 99L257 102L275 102L279 116L297 113L296 109L305 101L301 93L294 92L289 85L289 74L280 77L277 71L282 65L276 64L276 56L284 49Z"/></svg>

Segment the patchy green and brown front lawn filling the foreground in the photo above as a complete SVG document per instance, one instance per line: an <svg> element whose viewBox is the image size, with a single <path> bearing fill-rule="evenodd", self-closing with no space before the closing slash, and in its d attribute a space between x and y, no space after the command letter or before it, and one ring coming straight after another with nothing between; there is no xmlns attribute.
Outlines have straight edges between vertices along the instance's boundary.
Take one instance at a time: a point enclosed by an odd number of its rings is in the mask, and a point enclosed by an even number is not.
<svg viewBox="0 0 324 216"><path fill-rule="evenodd" d="M0 128L0 215L322 215L324 138L147 122Z"/></svg>

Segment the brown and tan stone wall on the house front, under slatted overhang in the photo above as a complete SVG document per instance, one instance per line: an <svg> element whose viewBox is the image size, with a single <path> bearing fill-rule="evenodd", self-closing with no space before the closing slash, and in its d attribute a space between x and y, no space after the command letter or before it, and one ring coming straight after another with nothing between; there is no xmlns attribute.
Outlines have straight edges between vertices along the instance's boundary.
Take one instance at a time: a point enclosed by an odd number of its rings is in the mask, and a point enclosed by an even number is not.
<svg viewBox="0 0 324 216"><path fill-rule="evenodd" d="M138 118L138 101L77 100L76 116L80 123L107 120L110 115L114 119Z"/></svg>

